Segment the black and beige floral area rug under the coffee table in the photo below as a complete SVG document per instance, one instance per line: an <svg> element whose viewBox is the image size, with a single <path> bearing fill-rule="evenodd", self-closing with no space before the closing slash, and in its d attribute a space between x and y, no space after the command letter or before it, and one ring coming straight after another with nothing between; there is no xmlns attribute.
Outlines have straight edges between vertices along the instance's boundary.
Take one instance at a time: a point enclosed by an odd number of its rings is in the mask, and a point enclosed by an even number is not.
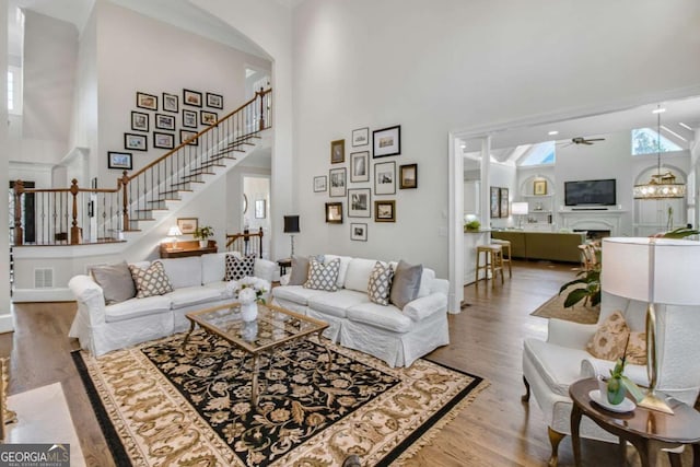
<svg viewBox="0 0 700 467"><path fill-rule="evenodd" d="M408 369L317 341L261 359L252 407L252 359L202 331L93 358L73 352L119 466L362 465L413 455L488 384L418 360Z"/></svg>

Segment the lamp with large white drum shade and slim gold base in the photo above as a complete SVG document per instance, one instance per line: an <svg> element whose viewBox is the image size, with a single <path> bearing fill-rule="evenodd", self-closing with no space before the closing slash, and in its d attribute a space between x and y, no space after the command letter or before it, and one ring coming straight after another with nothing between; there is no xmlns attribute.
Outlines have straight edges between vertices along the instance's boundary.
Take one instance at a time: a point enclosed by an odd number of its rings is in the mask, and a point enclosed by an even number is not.
<svg viewBox="0 0 700 467"><path fill-rule="evenodd" d="M649 389L639 404L673 413L656 393L656 311L654 306L700 305L698 264L700 242L670 238L603 238L603 291L646 302L646 373Z"/></svg>

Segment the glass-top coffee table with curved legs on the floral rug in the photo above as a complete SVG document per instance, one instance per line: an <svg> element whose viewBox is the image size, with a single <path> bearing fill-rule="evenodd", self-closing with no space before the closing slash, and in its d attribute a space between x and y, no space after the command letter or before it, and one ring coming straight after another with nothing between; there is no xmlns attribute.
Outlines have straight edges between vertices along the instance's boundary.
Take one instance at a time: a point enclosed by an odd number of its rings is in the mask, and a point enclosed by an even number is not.
<svg viewBox="0 0 700 467"><path fill-rule="evenodd" d="M258 316L255 320L244 322L241 305L237 302L214 306L211 308L185 314L190 327L183 350L187 350L187 342L196 326L207 332L219 336L234 347L244 350L253 358L253 381L250 402L257 406L259 400L258 373L260 372L260 355L271 353L276 348L298 339L307 339L312 335L318 336L318 342L326 348L330 369L331 354L328 346L322 339L328 323L304 316L289 310L270 304L258 303Z"/></svg>

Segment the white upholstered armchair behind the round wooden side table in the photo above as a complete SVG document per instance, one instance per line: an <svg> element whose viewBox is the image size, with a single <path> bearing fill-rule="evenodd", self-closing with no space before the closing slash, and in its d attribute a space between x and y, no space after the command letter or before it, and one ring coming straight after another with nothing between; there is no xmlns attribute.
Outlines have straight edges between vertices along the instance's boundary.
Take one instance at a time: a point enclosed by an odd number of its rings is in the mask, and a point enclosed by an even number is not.
<svg viewBox="0 0 700 467"><path fill-rule="evenodd" d="M622 312L632 331L644 331L646 304L603 292L600 317L603 323L614 311ZM657 389L692 406L700 390L700 308L689 306L656 306L656 355L658 361ZM571 434L572 402L569 386L596 374L608 375L615 362L599 360L586 350L598 325L582 325L550 319L547 340L525 339L523 350L523 380L526 394L530 394L545 413L551 458L557 465L558 446ZM642 386L648 386L646 366L628 364L625 374ZM605 432L587 418L581 423L581 436L617 443L617 437Z"/></svg>

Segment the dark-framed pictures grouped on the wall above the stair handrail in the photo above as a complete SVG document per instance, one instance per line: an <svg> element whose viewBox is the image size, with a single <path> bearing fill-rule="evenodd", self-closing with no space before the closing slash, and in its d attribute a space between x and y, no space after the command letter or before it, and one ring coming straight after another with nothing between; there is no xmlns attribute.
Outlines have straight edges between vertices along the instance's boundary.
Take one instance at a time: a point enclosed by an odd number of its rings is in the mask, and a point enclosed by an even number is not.
<svg viewBox="0 0 700 467"><path fill-rule="evenodd" d="M124 133L124 150L149 151L149 139L151 149L165 151L188 140L191 141L187 144L198 145L192 138L224 115L219 112L223 108L224 96L211 91L185 87L177 93L137 91L136 108L130 113L129 129ZM128 166L131 170L131 154L120 151L121 148L108 151L107 167L124 170ZM124 154L129 154L128 162Z"/></svg>

